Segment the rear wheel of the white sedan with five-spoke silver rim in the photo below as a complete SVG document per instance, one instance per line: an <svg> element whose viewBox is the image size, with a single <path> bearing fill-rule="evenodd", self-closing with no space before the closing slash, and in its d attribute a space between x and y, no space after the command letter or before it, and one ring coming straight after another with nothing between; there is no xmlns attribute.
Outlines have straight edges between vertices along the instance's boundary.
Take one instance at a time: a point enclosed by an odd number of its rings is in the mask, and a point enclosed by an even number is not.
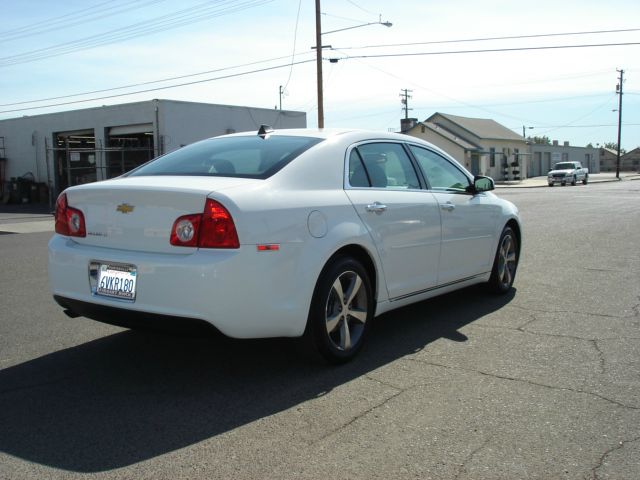
<svg viewBox="0 0 640 480"><path fill-rule="evenodd" d="M304 337L329 363L351 360L362 348L374 313L371 281L360 262L337 257L320 274Z"/></svg>

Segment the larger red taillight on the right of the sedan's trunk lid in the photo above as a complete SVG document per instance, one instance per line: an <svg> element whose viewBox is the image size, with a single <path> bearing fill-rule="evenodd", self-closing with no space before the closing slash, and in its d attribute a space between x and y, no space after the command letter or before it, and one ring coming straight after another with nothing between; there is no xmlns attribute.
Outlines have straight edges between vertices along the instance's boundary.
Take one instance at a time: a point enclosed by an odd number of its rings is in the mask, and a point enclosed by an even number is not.
<svg viewBox="0 0 640 480"><path fill-rule="evenodd" d="M171 245L200 248L239 248L236 226L229 211L207 199L204 212L184 215L173 223Z"/></svg>

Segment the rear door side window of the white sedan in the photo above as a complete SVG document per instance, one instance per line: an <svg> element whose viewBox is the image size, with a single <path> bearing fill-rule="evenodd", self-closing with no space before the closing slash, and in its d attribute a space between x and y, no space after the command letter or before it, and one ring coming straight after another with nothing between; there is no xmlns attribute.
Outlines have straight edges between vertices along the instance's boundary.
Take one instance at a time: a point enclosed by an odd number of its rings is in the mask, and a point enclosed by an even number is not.
<svg viewBox="0 0 640 480"><path fill-rule="evenodd" d="M420 182L411 159L399 143L359 145L349 156L352 187L417 189Z"/></svg>

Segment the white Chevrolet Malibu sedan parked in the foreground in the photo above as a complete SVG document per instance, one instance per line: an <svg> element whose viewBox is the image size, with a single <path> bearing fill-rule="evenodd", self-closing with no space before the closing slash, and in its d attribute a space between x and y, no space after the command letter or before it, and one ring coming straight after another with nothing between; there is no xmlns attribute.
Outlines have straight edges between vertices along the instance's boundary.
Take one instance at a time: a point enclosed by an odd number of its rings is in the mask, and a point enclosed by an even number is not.
<svg viewBox="0 0 640 480"><path fill-rule="evenodd" d="M70 316L302 337L340 363L377 315L512 288L520 220L493 188L413 137L263 126L65 190L49 281Z"/></svg>

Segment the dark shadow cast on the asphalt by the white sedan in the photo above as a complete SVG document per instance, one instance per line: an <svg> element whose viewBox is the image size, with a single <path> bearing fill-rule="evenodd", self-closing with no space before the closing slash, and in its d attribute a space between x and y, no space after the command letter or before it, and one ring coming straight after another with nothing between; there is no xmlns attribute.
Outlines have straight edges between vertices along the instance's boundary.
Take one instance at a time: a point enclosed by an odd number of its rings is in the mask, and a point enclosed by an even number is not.
<svg viewBox="0 0 640 480"><path fill-rule="evenodd" d="M515 295L468 288L379 317L340 367L301 359L286 339L236 341L124 331L0 372L0 450L101 472L187 447L317 398L465 325Z"/></svg>

